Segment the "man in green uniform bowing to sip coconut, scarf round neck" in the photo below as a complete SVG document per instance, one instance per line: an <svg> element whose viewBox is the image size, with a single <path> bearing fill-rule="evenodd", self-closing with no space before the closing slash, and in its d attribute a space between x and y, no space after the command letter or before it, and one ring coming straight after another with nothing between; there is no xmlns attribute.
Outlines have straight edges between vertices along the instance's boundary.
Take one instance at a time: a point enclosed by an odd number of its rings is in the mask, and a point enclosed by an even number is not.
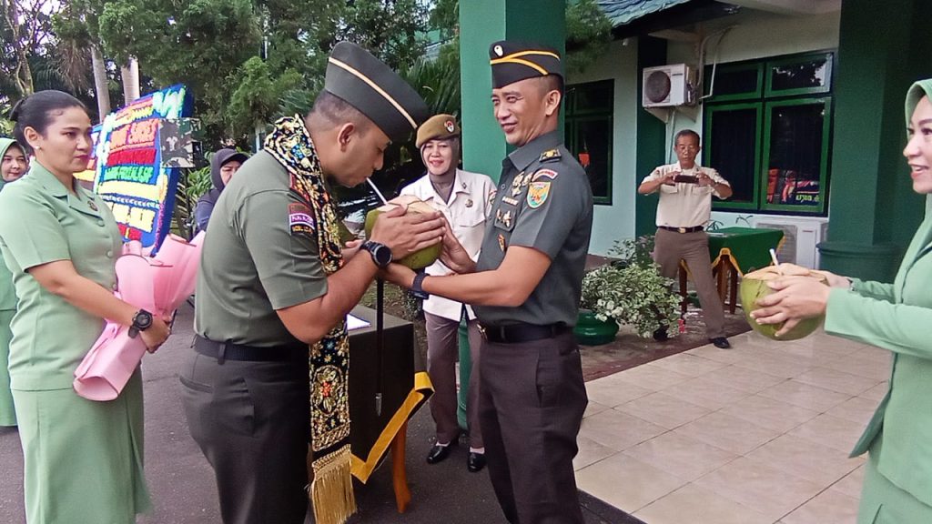
<svg viewBox="0 0 932 524"><path fill-rule="evenodd" d="M444 221L382 214L356 255L327 186L363 183L427 116L388 66L341 42L310 113L276 122L216 202L181 381L226 524L303 523L308 464L315 521L353 511L346 315L378 269L440 241Z"/></svg>

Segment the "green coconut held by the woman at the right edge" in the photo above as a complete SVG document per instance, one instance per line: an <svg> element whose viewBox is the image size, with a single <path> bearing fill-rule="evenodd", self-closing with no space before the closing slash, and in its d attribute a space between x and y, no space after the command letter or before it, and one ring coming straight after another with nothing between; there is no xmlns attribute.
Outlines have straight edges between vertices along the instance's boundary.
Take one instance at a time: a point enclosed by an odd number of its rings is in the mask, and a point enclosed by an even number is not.
<svg viewBox="0 0 932 524"><path fill-rule="evenodd" d="M783 271L782 274L780 271ZM751 311L758 309L757 301L774 292L767 283L786 276L811 278L817 282L828 285L825 277L819 275L815 271L802 268L802 266L796 266L795 264L780 264L780 269L777 269L775 266L768 266L767 268L747 273L741 278L741 285L738 287L738 294L741 296L741 308L745 311L747 324L750 324L754 331L757 331L771 340L798 340L808 337L816 331L818 326L822 324L822 321L825 320L824 314L803 319L799 324L796 324L795 327L790 329L788 333L777 337L776 332L783 327L784 323L758 324L757 321L751 317Z"/></svg>

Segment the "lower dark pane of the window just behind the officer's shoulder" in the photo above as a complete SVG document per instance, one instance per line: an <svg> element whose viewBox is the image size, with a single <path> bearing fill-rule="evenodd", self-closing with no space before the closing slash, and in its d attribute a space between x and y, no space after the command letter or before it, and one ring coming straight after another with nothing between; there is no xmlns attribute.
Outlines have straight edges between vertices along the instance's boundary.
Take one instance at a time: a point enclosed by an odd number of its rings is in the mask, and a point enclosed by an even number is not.
<svg viewBox="0 0 932 524"><path fill-rule="evenodd" d="M572 153L583 164L593 197L599 203L610 203L611 119L578 120L575 133Z"/></svg>

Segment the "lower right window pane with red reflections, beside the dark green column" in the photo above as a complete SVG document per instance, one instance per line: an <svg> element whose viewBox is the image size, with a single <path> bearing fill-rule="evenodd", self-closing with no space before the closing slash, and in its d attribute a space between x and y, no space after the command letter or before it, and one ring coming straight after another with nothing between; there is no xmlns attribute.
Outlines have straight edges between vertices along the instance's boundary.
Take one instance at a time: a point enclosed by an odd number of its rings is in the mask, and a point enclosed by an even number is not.
<svg viewBox="0 0 932 524"><path fill-rule="evenodd" d="M820 203L825 103L770 108L767 203Z"/></svg>

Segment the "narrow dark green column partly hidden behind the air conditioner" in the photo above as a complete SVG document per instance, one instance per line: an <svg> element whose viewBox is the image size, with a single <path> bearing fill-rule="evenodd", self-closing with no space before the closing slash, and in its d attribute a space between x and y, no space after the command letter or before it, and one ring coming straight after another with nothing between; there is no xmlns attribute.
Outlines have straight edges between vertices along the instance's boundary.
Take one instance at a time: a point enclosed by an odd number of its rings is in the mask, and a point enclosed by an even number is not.
<svg viewBox="0 0 932 524"><path fill-rule="evenodd" d="M645 67L666 63L666 40L652 36L637 39L637 103L642 86L639 81ZM657 197L637 194L641 179L653 168L666 163L666 125L643 108L637 110L637 159L635 165L635 236L652 235L657 230Z"/></svg>

